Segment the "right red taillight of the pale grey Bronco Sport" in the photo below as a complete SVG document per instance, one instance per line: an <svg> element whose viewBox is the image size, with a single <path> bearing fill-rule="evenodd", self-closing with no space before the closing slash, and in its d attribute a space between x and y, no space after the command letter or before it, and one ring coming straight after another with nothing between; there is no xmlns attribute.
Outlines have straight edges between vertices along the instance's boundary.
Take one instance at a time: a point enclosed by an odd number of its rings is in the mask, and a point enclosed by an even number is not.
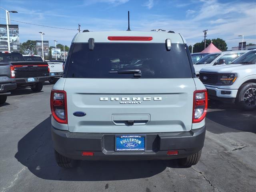
<svg viewBox="0 0 256 192"><path fill-rule="evenodd" d="M196 90L194 91L194 101L193 101L193 123L201 122L205 116L208 106L208 97L206 90Z"/></svg>

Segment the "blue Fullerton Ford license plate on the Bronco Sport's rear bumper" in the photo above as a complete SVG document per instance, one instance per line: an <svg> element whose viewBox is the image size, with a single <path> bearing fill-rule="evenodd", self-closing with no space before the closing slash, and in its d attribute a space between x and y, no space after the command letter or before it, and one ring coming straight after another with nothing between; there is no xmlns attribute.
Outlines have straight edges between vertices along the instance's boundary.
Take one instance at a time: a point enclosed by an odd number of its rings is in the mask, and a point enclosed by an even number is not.
<svg viewBox="0 0 256 192"><path fill-rule="evenodd" d="M133 140L132 140L133 139ZM122 141L122 142L121 142ZM115 135L115 151L145 151L146 135Z"/></svg>

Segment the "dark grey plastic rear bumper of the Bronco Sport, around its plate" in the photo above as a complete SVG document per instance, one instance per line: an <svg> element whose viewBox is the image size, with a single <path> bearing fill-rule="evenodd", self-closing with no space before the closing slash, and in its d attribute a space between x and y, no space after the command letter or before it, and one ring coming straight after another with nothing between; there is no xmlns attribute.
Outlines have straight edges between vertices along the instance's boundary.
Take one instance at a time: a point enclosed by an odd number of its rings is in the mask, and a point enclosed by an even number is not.
<svg viewBox="0 0 256 192"><path fill-rule="evenodd" d="M146 135L143 152L116 152L115 134L71 133L52 127L52 140L58 153L76 160L164 160L184 158L200 151L205 130L204 126L189 132L143 133ZM178 150L178 155L168 156L168 150ZM94 152L94 156L82 156L82 151Z"/></svg>

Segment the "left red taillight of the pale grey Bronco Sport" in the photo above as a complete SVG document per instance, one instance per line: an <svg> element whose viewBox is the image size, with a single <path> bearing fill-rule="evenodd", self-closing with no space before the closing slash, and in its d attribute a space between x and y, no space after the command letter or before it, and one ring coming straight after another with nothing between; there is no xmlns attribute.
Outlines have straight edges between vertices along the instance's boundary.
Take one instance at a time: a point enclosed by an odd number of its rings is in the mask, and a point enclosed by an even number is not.
<svg viewBox="0 0 256 192"><path fill-rule="evenodd" d="M62 124L68 124L67 94L62 90L52 90L51 111L53 118Z"/></svg>

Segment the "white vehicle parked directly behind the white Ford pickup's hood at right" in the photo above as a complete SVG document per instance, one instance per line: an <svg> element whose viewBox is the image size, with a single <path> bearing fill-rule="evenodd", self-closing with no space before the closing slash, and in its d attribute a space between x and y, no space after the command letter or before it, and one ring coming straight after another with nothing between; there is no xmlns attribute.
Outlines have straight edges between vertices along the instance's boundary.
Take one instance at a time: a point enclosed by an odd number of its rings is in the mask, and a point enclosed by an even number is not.
<svg viewBox="0 0 256 192"><path fill-rule="evenodd" d="M194 68L196 71L196 75L199 76L199 71L202 68L214 66L214 65L222 65L222 64L230 64L236 58L241 56L242 54L248 51L225 51L225 52L218 52L218 53L211 53L194 64Z"/></svg>

